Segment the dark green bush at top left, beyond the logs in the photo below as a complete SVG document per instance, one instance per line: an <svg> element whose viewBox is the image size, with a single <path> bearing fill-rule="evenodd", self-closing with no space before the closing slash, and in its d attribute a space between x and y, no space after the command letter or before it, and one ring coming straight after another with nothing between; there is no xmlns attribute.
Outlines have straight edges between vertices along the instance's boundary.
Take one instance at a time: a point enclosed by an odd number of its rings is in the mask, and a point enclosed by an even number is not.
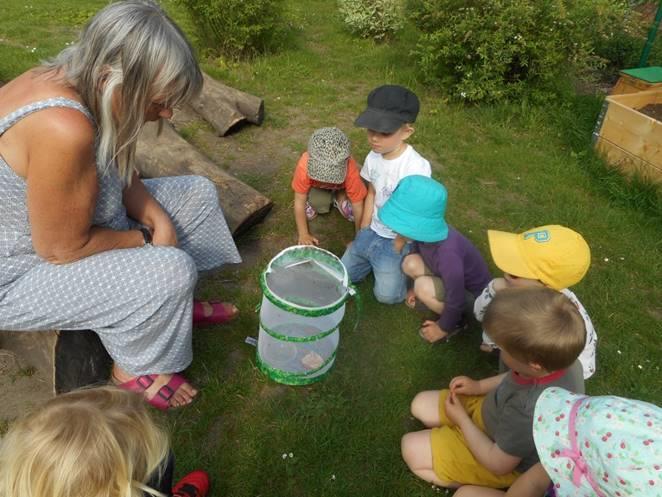
<svg viewBox="0 0 662 497"><path fill-rule="evenodd" d="M180 0L208 48L230 58L272 51L285 34L283 0Z"/></svg>

